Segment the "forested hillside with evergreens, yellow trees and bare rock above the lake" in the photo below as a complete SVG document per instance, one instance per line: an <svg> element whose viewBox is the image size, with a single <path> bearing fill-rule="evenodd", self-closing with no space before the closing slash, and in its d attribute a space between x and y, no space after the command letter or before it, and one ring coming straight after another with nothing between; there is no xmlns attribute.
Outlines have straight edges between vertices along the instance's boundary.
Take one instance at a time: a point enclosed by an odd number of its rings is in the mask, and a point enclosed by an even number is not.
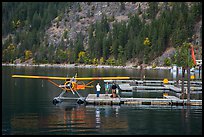
<svg viewBox="0 0 204 137"><path fill-rule="evenodd" d="M201 2L2 3L6 63L150 64L184 42L202 48Z"/></svg>

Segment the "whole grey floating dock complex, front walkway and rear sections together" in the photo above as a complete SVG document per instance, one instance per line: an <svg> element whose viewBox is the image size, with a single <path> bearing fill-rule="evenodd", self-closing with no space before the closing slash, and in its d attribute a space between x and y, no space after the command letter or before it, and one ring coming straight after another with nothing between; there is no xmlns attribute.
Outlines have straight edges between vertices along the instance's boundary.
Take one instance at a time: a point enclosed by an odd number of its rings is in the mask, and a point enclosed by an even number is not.
<svg viewBox="0 0 204 137"><path fill-rule="evenodd" d="M104 80L104 82L115 82L120 92L162 92L163 98L137 98L137 97L119 97L111 98L110 94L100 94L96 97L95 94L89 94L86 97L87 104L95 105L113 105L113 104L139 104L139 105L199 105L202 106L202 99L181 99L181 83L176 87L176 81L164 82L164 80ZM173 95L170 95L171 94ZM187 81L184 81L184 92L187 91ZM186 93L184 93L185 95ZM201 94L202 96L202 81L190 81L190 94Z"/></svg>

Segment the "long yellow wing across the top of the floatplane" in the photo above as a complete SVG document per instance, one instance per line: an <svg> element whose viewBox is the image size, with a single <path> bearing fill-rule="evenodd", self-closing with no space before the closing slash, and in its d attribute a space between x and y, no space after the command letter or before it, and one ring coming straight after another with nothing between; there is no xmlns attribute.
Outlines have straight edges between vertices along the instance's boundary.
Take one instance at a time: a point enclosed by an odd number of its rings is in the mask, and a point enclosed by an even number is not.
<svg viewBox="0 0 204 137"><path fill-rule="evenodd" d="M29 75L12 75L12 78L34 78L34 79L46 79L46 80L66 80L72 79L67 77L49 77L49 76L29 76ZM130 77L84 77L84 78L74 78L75 80L122 80L130 79Z"/></svg>

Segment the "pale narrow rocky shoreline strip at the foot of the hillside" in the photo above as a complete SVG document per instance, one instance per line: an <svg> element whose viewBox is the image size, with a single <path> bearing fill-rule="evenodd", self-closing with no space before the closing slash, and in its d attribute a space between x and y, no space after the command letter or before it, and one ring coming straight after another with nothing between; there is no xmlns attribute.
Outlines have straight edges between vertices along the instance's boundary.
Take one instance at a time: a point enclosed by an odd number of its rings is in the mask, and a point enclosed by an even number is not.
<svg viewBox="0 0 204 137"><path fill-rule="evenodd" d="M85 64L12 64L12 63L2 63L2 66L14 66L14 67L59 67L59 68L118 68L118 69L141 69L140 66L110 66L110 65L85 65ZM155 67L146 66L143 69L167 69L170 70L172 67Z"/></svg>

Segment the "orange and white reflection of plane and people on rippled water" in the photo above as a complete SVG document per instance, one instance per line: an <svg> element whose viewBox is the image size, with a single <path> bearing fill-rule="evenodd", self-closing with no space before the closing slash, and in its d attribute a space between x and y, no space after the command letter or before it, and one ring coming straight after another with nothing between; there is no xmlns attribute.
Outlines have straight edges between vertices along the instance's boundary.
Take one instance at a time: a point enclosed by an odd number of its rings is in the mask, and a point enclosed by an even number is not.
<svg viewBox="0 0 204 137"><path fill-rule="evenodd" d="M64 124L67 129L75 130L89 129L98 132L109 129L124 129L127 130L128 123L125 117L119 118L120 106L92 106L92 105L76 105L75 107L58 106L64 109ZM93 113L94 112L94 113ZM95 114L95 115L93 115ZM79 131L79 130L78 130Z"/></svg>

